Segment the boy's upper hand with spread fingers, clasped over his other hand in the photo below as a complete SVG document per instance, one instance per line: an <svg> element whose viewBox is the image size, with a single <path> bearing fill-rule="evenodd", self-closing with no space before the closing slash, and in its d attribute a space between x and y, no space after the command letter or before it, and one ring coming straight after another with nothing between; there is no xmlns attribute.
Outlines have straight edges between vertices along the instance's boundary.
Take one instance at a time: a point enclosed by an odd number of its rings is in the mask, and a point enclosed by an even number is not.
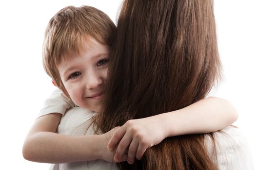
<svg viewBox="0 0 256 170"><path fill-rule="evenodd" d="M128 149L127 162L133 164L135 158L140 160L146 149L157 145L164 138L164 129L158 116L132 119L117 129L108 142L108 149L114 150L118 145L114 155L117 162Z"/></svg>

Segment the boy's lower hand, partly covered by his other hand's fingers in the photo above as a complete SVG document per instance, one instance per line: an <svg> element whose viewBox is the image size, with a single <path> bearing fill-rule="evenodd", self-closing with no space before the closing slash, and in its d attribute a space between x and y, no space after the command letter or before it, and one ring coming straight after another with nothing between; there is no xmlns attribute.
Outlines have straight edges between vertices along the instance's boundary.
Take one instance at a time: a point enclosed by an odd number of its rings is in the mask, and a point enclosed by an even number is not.
<svg viewBox="0 0 256 170"><path fill-rule="evenodd" d="M112 150L110 151L107 148L107 144L110 140L110 138L113 136L113 134L119 129L120 127L115 127L112 130L108 131L105 134L101 135L101 141L102 144L100 146L100 155L101 155L101 159L107 161L107 162L123 162L127 160L127 154L122 154L121 158L118 161L115 161L113 159L114 153L116 152L116 150Z"/></svg>

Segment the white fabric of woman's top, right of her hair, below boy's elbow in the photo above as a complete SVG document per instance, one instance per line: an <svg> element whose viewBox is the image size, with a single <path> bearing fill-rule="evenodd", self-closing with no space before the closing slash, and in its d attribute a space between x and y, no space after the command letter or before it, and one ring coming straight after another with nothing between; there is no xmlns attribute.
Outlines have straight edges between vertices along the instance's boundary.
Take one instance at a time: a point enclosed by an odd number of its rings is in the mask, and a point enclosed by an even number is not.
<svg viewBox="0 0 256 170"><path fill-rule="evenodd" d="M219 170L254 170L248 143L238 128L230 126L215 132L214 136ZM212 149L210 143L207 147ZM211 151L209 153L210 157L213 156Z"/></svg>

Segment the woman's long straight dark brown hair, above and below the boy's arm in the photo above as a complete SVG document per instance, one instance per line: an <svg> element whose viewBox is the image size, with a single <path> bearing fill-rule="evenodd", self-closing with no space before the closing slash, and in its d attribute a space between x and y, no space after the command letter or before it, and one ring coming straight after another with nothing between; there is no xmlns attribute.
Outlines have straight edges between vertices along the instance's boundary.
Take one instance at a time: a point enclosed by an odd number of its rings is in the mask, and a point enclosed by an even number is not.
<svg viewBox="0 0 256 170"><path fill-rule="evenodd" d="M105 133L129 119L181 109L220 77L211 0L125 0L111 56L103 112ZM214 136L210 134L213 141ZM168 137L120 169L216 170L204 135Z"/></svg>

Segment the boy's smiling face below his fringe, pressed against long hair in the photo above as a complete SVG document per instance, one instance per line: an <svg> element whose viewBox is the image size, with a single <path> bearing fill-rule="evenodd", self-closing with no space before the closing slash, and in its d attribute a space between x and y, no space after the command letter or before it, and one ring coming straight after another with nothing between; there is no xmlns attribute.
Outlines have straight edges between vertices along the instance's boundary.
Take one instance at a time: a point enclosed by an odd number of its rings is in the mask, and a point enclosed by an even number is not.
<svg viewBox="0 0 256 170"><path fill-rule="evenodd" d="M61 81L78 106L99 112L108 71L108 46L91 38L79 57L58 65Z"/></svg>

